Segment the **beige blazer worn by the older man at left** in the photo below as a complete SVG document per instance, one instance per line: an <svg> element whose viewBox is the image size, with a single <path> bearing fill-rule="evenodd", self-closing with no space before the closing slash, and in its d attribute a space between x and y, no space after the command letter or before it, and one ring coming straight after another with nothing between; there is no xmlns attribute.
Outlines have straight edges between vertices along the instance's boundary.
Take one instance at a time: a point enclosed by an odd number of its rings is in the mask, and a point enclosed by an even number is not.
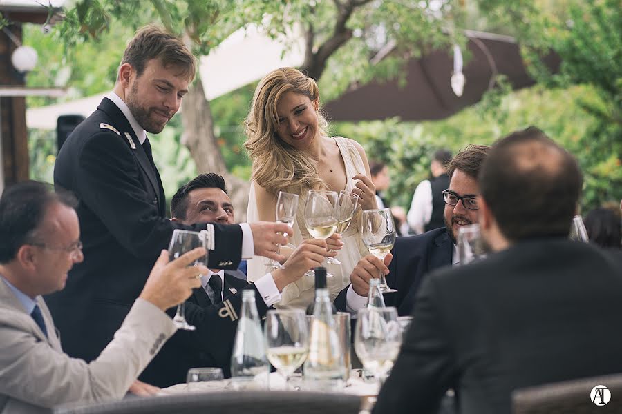
<svg viewBox="0 0 622 414"><path fill-rule="evenodd" d="M0 279L0 413L46 413L68 402L125 395L176 331L171 318L136 299L112 342L90 364L63 353L43 299L37 300L49 338Z"/></svg>

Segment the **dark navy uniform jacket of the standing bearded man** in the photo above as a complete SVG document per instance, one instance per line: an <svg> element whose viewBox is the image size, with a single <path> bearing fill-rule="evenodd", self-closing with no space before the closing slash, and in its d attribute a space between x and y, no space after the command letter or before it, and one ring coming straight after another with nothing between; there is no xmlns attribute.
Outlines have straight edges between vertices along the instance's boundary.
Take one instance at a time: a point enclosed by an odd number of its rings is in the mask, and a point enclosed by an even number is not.
<svg viewBox="0 0 622 414"><path fill-rule="evenodd" d="M151 154L106 98L62 146L54 182L79 199L84 262L73 266L66 288L46 302L64 351L91 361L121 326L173 229L199 230L205 224L184 226L164 217L166 199ZM216 250L209 252L209 267L235 269L242 230L214 227Z"/></svg>

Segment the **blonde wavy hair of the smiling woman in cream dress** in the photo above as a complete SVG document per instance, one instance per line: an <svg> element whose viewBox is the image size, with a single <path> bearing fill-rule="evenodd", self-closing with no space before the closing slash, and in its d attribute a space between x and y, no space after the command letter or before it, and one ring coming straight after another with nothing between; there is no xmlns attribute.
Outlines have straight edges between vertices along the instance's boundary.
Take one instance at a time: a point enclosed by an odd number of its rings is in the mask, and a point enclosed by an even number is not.
<svg viewBox="0 0 622 414"><path fill-rule="evenodd" d="M276 105L287 92L305 95L319 104L317 83L299 70L280 68L261 79L245 119L244 148L253 164L252 179L275 195L281 190L301 194L312 188L326 189L328 186L317 171L317 161L276 135ZM328 136L328 121L319 110L317 119L320 134Z"/></svg>

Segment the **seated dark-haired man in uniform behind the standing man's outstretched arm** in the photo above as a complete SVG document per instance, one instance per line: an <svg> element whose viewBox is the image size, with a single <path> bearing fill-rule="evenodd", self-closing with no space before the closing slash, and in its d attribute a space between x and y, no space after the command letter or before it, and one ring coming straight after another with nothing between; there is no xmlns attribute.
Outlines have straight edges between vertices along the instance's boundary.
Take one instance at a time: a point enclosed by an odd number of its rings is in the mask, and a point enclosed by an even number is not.
<svg viewBox="0 0 622 414"><path fill-rule="evenodd" d="M214 173L198 175L173 196L171 215L182 224L234 224L234 207L225 179ZM238 270L209 269L185 306L186 320L196 326L196 331L178 331L140 379L170 386L185 382L189 368L200 366L218 366L229 377L242 290L255 291L259 316L265 317L267 309L281 299L283 288L300 279L305 271L321 266L327 253L323 240L305 240L288 257L285 268L267 273L254 284L236 277L233 272Z"/></svg>

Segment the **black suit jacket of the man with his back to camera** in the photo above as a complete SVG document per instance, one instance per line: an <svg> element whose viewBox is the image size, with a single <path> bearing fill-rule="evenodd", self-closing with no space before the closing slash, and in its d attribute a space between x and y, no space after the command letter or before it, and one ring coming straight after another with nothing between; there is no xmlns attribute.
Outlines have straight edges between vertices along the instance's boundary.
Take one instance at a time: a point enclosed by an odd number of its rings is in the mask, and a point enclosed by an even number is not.
<svg viewBox="0 0 622 414"><path fill-rule="evenodd" d="M621 264L565 239L438 270L373 413L435 413L447 388L460 413L510 413L518 388L620 373L621 298Z"/></svg>

